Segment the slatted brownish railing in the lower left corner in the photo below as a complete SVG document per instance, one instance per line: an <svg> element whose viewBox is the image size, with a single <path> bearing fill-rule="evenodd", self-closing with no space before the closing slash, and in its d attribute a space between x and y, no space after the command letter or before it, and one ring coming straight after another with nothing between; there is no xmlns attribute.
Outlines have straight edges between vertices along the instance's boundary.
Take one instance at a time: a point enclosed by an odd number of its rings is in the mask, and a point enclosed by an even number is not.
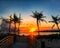
<svg viewBox="0 0 60 48"><path fill-rule="evenodd" d="M13 36L7 36L0 40L0 48L8 48L11 44L13 44Z"/></svg>

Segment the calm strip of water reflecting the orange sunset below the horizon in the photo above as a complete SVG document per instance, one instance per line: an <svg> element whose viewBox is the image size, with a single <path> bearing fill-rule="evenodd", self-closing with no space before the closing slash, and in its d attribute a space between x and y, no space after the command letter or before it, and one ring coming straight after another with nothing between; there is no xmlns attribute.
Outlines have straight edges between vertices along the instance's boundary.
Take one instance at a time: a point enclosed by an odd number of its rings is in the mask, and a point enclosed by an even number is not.
<svg viewBox="0 0 60 48"><path fill-rule="evenodd" d="M0 32L0 33L4 33L6 34L7 32ZM11 34L14 34L14 32L11 32ZM16 32L16 34L18 34L18 32ZM38 35L38 32L20 32L19 35L30 35L30 34L33 34L33 35ZM50 35L50 34L59 34L59 32L40 32L40 35Z"/></svg>

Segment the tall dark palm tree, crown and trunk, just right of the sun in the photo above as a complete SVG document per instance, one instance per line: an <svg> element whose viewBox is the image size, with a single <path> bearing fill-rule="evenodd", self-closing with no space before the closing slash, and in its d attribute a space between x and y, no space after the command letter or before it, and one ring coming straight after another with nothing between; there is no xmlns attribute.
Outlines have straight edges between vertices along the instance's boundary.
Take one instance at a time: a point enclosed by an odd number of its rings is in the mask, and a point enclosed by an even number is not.
<svg viewBox="0 0 60 48"><path fill-rule="evenodd" d="M32 13L33 13L32 17L35 18L36 22L37 22L38 35L39 35L39 23L40 23L40 21L45 21L43 18L45 18L46 16L43 16L42 12L35 11L35 12L32 12Z"/></svg>

